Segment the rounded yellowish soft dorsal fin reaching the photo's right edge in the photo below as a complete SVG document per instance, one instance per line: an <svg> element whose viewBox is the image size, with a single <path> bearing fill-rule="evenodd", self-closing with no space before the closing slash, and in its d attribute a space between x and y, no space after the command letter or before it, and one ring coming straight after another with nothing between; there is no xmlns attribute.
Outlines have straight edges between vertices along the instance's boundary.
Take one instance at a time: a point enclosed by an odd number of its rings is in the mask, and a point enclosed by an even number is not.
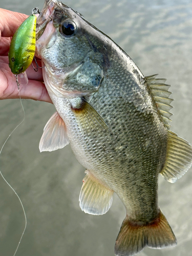
<svg viewBox="0 0 192 256"><path fill-rule="evenodd" d="M167 152L160 174L165 180L174 183L184 175L192 164L192 147L177 134L168 132Z"/></svg>

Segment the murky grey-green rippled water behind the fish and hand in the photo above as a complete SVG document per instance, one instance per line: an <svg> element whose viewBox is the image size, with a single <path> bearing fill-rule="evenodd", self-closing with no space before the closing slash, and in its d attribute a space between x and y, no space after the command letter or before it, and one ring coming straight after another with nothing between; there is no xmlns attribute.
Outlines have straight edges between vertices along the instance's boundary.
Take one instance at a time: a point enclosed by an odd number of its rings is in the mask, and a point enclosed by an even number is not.
<svg viewBox="0 0 192 256"><path fill-rule="evenodd" d="M192 1L68 0L111 36L144 75L172 84L172 131L192 143ZM0 0L1 8L31 14L43 1ZM1 86L1 84L0 84ZM112 256L124 206L117 197L103 216L84 214L78 196L84 168L70 146L39 153L43 128L55 112L45 102L23 100L25 122L8 140L0 168L24 204L28 225L18 256ZM0 145L23 118L19 100L0 101ZM159 205L177 237L175 248L145 248L139 255L191 255L192 170L175 184L160 177ZM0 178L0 256L12 256L25 221L17 197Z"/></svg>

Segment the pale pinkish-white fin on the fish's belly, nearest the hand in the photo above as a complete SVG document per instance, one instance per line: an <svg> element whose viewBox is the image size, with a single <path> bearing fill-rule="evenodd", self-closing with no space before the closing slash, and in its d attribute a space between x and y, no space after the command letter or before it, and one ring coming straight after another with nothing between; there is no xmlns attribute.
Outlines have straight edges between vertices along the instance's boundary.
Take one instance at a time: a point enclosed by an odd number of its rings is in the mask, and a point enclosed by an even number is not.
<svg viewBox="0 0 192 256"><path fill-rule="evenodd" d="M65 122L55 112L44 128L44 133L39 142L39 150L40 152L54 151L65 147L67 144L69 144L69 137Z"/></svg>

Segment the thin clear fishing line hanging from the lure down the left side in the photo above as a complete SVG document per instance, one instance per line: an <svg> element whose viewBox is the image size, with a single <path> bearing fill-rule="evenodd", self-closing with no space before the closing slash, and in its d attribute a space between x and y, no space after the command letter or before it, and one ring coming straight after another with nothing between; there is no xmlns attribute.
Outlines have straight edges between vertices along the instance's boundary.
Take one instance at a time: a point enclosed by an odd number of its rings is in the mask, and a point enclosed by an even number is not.
<svg viewBox="0 0 192 256"><path fill-rule="evenodd" d="M5 144L6 144L6 142L7 142L8 139L9 139L9 137L10 137L10 136L12 135L12 133L17 129L17 127L18 127L20 124L22 124L22 123L24 122L24 120L25 120L25 110L24 110L24 106L23 106L23 103L22 103L22 99L20 98L20 88L19 88L19 83L18 83L18 77L17 77L17 75L15 75L15 77L16 77L16 83L17 83L17 88L18 88L18 96L19 96L19 99L20 99L20 104L22 105L22 109L23 109L23 113L24 113L24 118L23 118L23 120L15 127L15 129L10 133L10 135L7 137L6 141L4 142L4 144L3 144L2 148L1 148L0 155L1 155L1 153L2 153L2 150L3 150L3 148L4 148ZM1 172L1 170L0 170L0 174L1 174L2 178L4 179L4 181L9 185L9 187L13 190L13 192L14 192L15 195L17 196L17 198L18 198L20 204L22 205L23 212L24 212L24 216L25 216L25 228L24 228L24 231L23 231L23 233L22 233L22 236L20 237L20 240L19 240L19 242L18 242L18 245L17 245L17 248L16 248L16 250L15 250L15 253L13 254L13 256L15 256L15 254L16 254L16 252L17 252L17 249L18 249L18 247L19 247L19 245L20 245L20 241L22 241L23 235L24 235L25 230L26 230L26 227L27 227L27 217L26 217L26 212L25 212L25 209L24 209L22 200L20 200L20 198L19 198L19 196L17 195L17 193L16 193L16 191L14 190L14 188L13 188L13 187L8 183L8 181L4 178L4 176L3 176L2 172Z"/></svg>

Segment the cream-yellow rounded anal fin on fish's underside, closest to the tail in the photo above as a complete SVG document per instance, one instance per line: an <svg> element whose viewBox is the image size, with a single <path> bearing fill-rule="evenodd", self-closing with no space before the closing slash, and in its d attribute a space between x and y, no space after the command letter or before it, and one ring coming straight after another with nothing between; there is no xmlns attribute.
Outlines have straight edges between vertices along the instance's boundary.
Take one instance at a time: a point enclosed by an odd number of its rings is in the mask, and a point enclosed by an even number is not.
<svg viewBox="0 0 192 256"><path fill-rule="evenodd" d="M81 210L88 214L102 215L109 210L113 202L113 190L101 184L89 170L79 195Z"/></svg>

